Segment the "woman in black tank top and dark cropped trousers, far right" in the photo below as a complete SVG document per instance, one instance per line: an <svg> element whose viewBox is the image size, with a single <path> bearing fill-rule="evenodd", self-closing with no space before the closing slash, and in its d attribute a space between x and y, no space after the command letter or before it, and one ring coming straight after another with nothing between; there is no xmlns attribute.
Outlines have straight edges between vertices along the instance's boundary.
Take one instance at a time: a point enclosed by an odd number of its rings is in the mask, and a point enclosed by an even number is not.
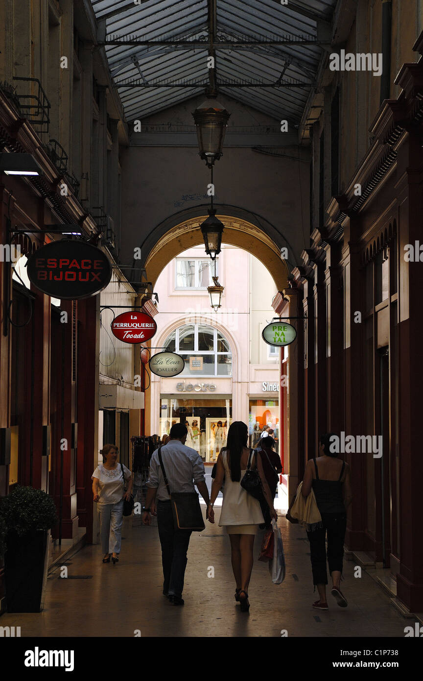
<svg viewBox="0 0 423 681"><path fill-rule="evenodd" d="M331 594L341 607L348 605L339 588L342 575L343 542L347 526L346 509L352 501L350 466L337 460L337 453L331 452L333 433L320 436L318 458L307 462L301 493L308 496L313 490L322 516L321 526L307 532L310 542L311 570L320 599L313 603L319 610L328 610L326 601L326 533L328 538L327 561L333 587Z"/></svg>

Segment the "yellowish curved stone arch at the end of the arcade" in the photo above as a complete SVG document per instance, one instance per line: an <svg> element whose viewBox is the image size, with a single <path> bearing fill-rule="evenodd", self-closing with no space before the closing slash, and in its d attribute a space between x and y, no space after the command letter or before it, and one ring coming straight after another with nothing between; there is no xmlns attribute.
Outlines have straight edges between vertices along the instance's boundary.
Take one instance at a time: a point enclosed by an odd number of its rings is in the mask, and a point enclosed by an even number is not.
<svg viewBox="0 0 423 681"><path fill-rule="evenodd" d="M177 216L180 219L180 213ZM294 254L291 247L286 245L287 242L284 242L284 246L280 246L269 236L267 230L265 231L265 229L246 219L220 212L217 213L217 217L224 224L224 243L237 246L254 254L263 262L273 276L277 289L282 291L282 289L287 288L290 270L286 261L281 259L280 255L280 249L287 247L288 254L292 253L290 264L294 266L292 261ZM141 245L141 260L134 261L135 266L138 265L146 270L147 281L151 281L154 285L160 272L174 257L182 253L182 251L203 243L203 236L199 225L206 218L207 214L201 212L198 217L190 217L182 222L176 222L172 227L169 227L168 224L167 229L161 236L158 236L158 231L163 230L158 230L158 228L153 230L152 234L156 233L158 238L152 240L148 237ZM280 239L279 241L282 243L283 240ZM148 251L146 244L150 244Z"/></svg>

